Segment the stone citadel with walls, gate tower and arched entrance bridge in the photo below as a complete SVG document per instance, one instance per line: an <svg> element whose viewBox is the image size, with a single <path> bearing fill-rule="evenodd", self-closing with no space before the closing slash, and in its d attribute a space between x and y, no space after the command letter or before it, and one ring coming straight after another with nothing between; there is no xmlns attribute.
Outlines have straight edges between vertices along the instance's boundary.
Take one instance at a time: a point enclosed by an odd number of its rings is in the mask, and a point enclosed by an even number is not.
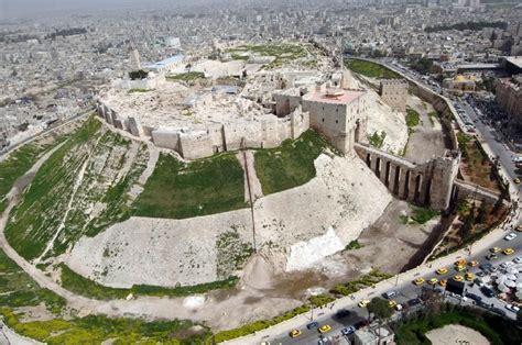
<svg viewBox="0 0 522 345"><path fill-rule="evenodd" d="M137 52L132 54L139 62ZM185 159L276 147L314 129L344 155L358 154L399 199L436 210L448 208L456 192L453 182L460 159L456 152L417 165L371 147L368 116L374 100L369 99L368 90L354 87L350 70L271 71L260 69L267 60L258 57L255 63L260 62L254 68L249 62L216 62L214 71L200 67L203 78L194 82L172 82L165 74L187 70L182 56L168 58L149 65L145 79L116 82L98 99L97 113L116 129L151 140ZM235 63L232 69L230 63ZM393 111L405 112L406 80L382 80L379 93Z"/></svg>

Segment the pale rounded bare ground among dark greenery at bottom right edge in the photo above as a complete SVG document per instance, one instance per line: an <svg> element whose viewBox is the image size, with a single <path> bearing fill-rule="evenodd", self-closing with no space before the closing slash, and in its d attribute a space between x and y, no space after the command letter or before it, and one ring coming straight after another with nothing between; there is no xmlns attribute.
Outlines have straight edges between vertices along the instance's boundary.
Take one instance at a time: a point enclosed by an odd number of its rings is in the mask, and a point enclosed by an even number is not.
<svg viewBox="0 0 522 345"><path fill-rule="evenodd" d="M442 329L432 330L426 333L433 345L488 345L488 340L479 332L458 325L449 324Z"/></svg>

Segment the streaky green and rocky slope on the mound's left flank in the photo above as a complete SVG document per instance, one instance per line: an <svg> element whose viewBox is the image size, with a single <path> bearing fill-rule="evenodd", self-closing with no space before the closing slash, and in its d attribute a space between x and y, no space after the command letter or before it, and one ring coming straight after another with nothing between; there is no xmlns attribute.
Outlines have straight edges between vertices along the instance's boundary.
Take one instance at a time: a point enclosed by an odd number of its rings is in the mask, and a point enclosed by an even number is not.
<svg viewBox="0 0 522 345"><path fill-rule="evenodd" d="M48 255L64 253L84 234L94 236L110 224L130 216L128 192L146 167L146 146L141 144L139 158L132 162L124 177L118 181L109 180L107 177L110 175L113 178L115 174L106 171L119 171L123 167L130 141L99 130L100 122L91 118L51 155L36 172L23 201L11 214L6 236L26 259L39 257L53 238L65 216L78 171L89 154L91 157L74 196L73 208ZM97 202L105 203L106 208L90 219L85 210Z"/></svg>

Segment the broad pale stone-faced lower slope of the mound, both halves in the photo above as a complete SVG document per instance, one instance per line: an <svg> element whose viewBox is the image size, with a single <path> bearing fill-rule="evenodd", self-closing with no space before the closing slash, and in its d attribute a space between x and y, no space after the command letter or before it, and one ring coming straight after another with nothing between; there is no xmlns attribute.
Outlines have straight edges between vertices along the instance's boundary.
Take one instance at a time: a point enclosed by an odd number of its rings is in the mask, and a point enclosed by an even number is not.
<svg viewBox="0 0 522 345"><path fill-rule="evenodd" d="M342 249L392 200L358 157L320 155L315 165L317 177L309 182L254 203L258 249L276 272L313 267ZM220 258L236 256L217 245L229 232L244 245L252 242L249 209L185 220L131 218L83 237L65 261L111 287L209 282L226 278L218 277Z"/></svg>

